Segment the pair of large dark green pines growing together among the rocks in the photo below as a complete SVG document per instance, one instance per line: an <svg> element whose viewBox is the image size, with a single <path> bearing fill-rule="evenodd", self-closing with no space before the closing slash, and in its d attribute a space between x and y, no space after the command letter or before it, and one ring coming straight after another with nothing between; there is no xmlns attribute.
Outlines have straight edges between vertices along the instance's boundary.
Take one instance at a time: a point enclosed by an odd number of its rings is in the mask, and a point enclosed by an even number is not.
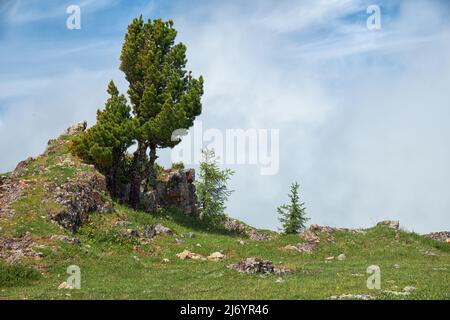
<svg viewBox="0 0 450 320"><path fill-rule="evenodd" d="M73 147L107 175L113 195L119 173L127 173L133 208L141 187L156 181L157 149L177 145L181 140L173 138L174 132L191 127L202 111L203 78L186 70L186 46L175 43L176 35L172 21L133 20L120 56L131 106L111 82L97 123ZM126 150L133 144L137 148L130 159Z"/></svg>

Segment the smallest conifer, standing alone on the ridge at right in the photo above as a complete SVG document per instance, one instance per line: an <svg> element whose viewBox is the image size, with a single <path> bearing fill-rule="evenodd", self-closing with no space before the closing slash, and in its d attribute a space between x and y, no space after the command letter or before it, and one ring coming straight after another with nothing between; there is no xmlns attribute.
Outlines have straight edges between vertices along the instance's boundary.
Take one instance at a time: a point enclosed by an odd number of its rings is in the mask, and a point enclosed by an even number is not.
<svg viewBox="0 0 450 320"><path fill-rule="evenodd" d="M289 193L290 204L284 204L277 209L285 233L297 233L303 230L309 220L306 218L305 204L299 203L299 188L300 185L294 182Z"/></svg>

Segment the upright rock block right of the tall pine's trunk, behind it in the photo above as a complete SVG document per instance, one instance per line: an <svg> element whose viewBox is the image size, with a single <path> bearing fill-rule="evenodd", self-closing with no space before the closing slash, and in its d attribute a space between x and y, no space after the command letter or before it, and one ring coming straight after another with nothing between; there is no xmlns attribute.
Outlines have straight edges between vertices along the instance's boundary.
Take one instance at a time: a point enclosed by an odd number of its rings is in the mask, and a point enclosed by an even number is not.
<svg viewBox="0 0 450 320"><path fill-rule="evenodd" d="M195 193L194 169L168 170L156 188L144 193L141 204L147 212L160 207L178 209L187 215L197 214L197 195Z"/></svg>

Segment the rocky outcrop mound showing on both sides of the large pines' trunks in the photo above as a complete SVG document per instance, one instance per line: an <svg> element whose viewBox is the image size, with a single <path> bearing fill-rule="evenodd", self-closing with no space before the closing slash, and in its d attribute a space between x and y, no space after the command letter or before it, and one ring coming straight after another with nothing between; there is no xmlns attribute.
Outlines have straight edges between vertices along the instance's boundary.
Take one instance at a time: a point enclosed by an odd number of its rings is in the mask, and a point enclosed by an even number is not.
<svg viewBox="0 0 450 320"><path fill-rule="evenodd" d="M85 129L85 122L68 128L59 138L48 142L42 155L28 158L13 172L0 176L0 219L13 216L17 202L25 198L39 202L47 219L71 231L83 225L92 212L114 210L105 177L70 152L73 137ZM195 215L194 170L169 169L161 177L154 190L143 191L144 211L168 207ZM127 188L123 186L124 197Z"/></svg>

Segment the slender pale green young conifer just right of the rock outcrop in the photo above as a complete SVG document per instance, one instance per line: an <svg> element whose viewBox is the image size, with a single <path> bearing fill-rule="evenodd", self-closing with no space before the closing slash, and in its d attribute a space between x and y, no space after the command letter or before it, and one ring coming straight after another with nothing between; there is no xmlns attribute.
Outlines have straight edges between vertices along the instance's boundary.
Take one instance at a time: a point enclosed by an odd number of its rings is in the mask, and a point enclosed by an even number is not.
<svg viewBox="0 0 450 320"><path fill-rule="evenodd" d="M234 174L230 169L221 170L217 165L214 150L202 150L199 179L196 183L202 219L219 225L225 219L225 203L233 190L227 182Z"/></svg>

